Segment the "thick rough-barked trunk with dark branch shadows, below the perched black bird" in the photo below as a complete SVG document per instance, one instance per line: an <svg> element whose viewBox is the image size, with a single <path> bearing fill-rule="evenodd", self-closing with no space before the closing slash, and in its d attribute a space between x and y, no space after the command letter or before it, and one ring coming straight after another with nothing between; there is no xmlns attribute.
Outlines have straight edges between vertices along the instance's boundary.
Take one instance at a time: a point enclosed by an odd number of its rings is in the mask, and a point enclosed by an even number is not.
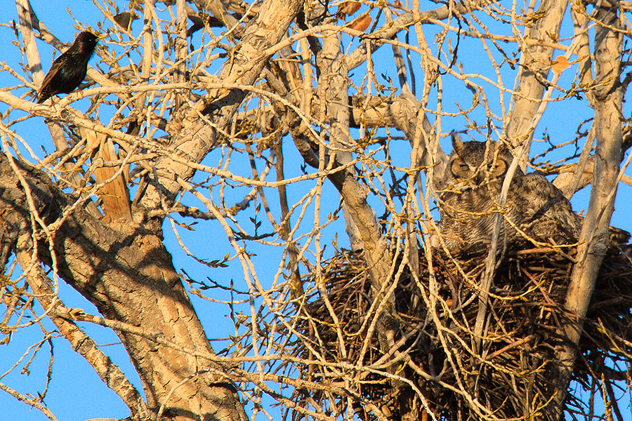
<svg viewBox="0 0 632 421"><path fill-rule="evenodd" d="M60 220L69 201L41 171L0 156L1 230L41 234L29 215L37 213L49 227ZM24 180L30 195L20 181ZM31 201L34 209L29 208ZM171 255L162 238L150 226L112 227L81 208L65 215L55 229L54 256L58 276L82 293L107 319L161 332L185 349L211 353L202 325L195 314ZM32 253L32 236L21 236L17 248ZM37 260L51 265L46 241L37 243ZM27 253L27 254L24 254ZM24 267L28 272L28 267ZM147 395L147 407L164 405L176 420L246 420L235 388L225 375L230 368L169 347L158 347L147 338L117 331ZM225 373L225 375L217 375ZM169 396L169 400L167 397ZM140 409L140 408L139 408Z"/></svg>

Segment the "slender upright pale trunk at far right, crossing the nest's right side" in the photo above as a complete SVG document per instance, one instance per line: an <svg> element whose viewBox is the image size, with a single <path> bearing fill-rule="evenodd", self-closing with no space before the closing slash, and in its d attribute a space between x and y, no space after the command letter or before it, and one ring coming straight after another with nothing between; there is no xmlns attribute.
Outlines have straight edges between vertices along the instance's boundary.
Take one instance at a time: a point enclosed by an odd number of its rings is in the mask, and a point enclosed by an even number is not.
<svg viewBox="0 0 632 421"><path fill-rule="evenodd" d="M608 227L614 210L621 162L623 93L619 82L619 52L622 36L615 31L619 25L617 9L603 5L598 11L597 18L598 22L603 22L603 25L595 28L595 93L592 95L592 105L595 109L593 125L597 150L591 199L577 247L577 263L573 267L565 300L565 309L574 323L567 326L562 333L568 342L558 350L558 360L562 363L560 394L555 400L557 405L553 411L556 413L553 413L551 419L558 419L562 415L584 317L593 296L598 270L610 243Z"/></svg>

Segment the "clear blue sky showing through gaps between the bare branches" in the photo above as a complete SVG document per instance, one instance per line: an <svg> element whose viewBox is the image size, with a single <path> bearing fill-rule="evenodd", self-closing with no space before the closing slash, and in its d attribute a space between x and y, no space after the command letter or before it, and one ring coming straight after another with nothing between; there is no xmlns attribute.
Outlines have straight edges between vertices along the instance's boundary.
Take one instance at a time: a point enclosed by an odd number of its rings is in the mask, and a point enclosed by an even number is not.
<svg viewBox="0 0 632 421"><path fill-rule="evenodd" d="M13 4L11 4L11 2L6 3L8 4L5 4L4 8L0 8L0 23L3 24L7 24L8 22L11 22L11 20L17 19ZM121 9L124 9L128 4L127 1L120 0L115 3ZM73 28L74 20L72 19L72 16L80 22L90 24L93 27L96 27L96 22L100 18L98 9L91 3L91 1L58 0L54 2L53 6L53 2L48 0L33 0L32 4L34 10L39 16L39 19L44 22L46 27L48 27L53 34L62 39L62 41L66 42L72 41L72 39L74 39L74 34L77 32ZM426 7L433 7L433 4L428 3L426 4ZM67 12L66 8L70 8L70 10L72 10L72 16ZM52 11L54 11L54 13ZM137 33L139 30L140 22L137 21L133 26L133 32ZM1 60L6 61L9 64L15 64L20 60L20 56L18 49L9 42L10 40L13 40L13 30L9 27L0 27L0 38L4 40L4 51ZM433 39L432 34L430 34L430 29L427 34L427 38L429 40ZM465 39L461 42L461 53L459 58L466 66L466 72L489 72L489 65L486 60L478 60L482 51L479 41ZM197 45L199 45L199 43ZM42 65L44 69L48 69L53 59L53 49L39 41L37 46L41 55ZM57 55L55 55L55 57L56 56ZM412 61L413 63L418 63L419 57L413 54ZM94 62L95 59L93 59L91 63ZM381 51L374 55L374 65L376 66L376 74L385 74L393 79L394 83L397 81L397 74L393 66L390 47L383 47ZM512 72L513 71L507 67L503 69L503 78L505 83L513 83ZM565 86L567 88L570 87L570 83L572 83L575 72L577 72L577 65L567 69L567 71L562 74L562 78L559 81L560 86ZM357 83L361 83L361 79L364 76L364 68L359 67L355 70L354 74L354 80ZM419 83L419 81L421 81L421 74L418 72L416 76ZM13 85L15 84L15 81L13 79L9 79L6 72L0 73L0 87L8 86L9 84ZM482 83L482 85L485 86L485 83ZM444 83L442 88L444 95L443 107L446 112L456 112L456 105L454 105L455 102L459 102L461 107L466 107L468 102L471 100L470 91L464 91L463 86L457 83L454 83L453 85ZM489 86L487 86L487 88L489 88ZM421 86L418 87L418 92L420 91ZM433 95L436 95L436 90L433 91ZM431 95L431 98L433 95ZM498 94L490 88L490 104L492 105L494 112L499 112L500 101L499 98L497 96L494 97L494 95ZM434 107L434 105L435 103L431 100L429 106ZM87 102L79 102L79 105L77 106L79 108L84 107L83 109L86 109ZM2 106L0 105L0 107ZM0 109L0 112L1 111L4 111L4 109ZM630 107L625 105L624 114L629 116L630 112ZM536 142L534 144L533 154L546 147L544 142L538 142L538 140L541 140L544 137L545 133L550 136L552 142L554 143L566 142L574 137L574 132L577 129L579 122L591 115L592 111L588 107L586 100L565 100L563 102L553 102L548 105L544 119L542 119L541 123L536 128L534 136L536 138ZM480 119L478 123L485 123L485 114L482 108L479 108L475 112L475 116L477 119ZM37 124L34 122L37 122ZM449 117L443 117L442 131L444 133L449 133L449 131L453 129L461 130L464 124L464 119L450 119ZM28 124L20 127L20 134L29 142L35 142L36 140L41 139L42 144L46 146L48 151L53 149L49 140L48 131L46 130L46 126L42 119L30 120ZM448 138L445 138L442 145L447 149L447 152L449 152ZM36 145L33 146L34 149L39 148L36 147ZM409 165L409 145L403 140L398 141L396 149L397 153L393 155L393 163L398 166L403 166L404 168L407 167ZM391 150L393 152L395 148L392 148ZM568 150L569 149L565 149L565 151ZM287 163L301 162L300 156L294 152L293 147L286 147L285 152L287 154ZM207 158L207 163L210 164L216 162L217 160L218 156L211 155ZM239 166L243 166L246 168L244 173L249 175L246 156L236 157L235 163L232 165L232 168L239 168ZM261 168L259 169L261 170ZM300 173L298 166L295 168L289 168L287 171L287 175L298 175L298 173ZM627 175L632 176L632 168L629 168L626 173ZM311 187L312 184L310 182L298 183L297 185L289 186L288 191L290 201L300 199L304 192ZM231 199L237 199L246 190L248 189L245 189L244 187L235 188L235 191L228 194L228 196ZM268 197L275 196L276 194L276 192L272 189L265 189L265 193ZM574 196L572 200L574 210L579 212L580 210L586 209L588 194L588 189L584 189ZM331 185L326 185L324 187L322 200L324 205L321 211L321 220L324 220L324 218L327 218L328 213L334 212L336 208L338 208L338 195ZM194 204L195 199L189 197L185 199L185 202ZM616 210L612 218L612 225L632 231L632 213L630 211L631 203L632 187L628 185L621 185L617 195L617 203L615 206ZM249 216L252 216L252 214L249 213ZM265 215L260 213L258 218L264 220L261 228L262 231L265 232L266 229L269 231L270 225L266 225ZM180 218L180 220L183 220L183 218ZM191 221L183 220L183 222ZM244 223L247 224L247 222ZM305 230L309 229L309 225L310 222L307 222ZM235 286L237 288L243 289L243 275L241 269L239 269L239 266L235 264L235 262L232 262L228 269L209 269L204 265L199 265L191 258L187 257L183 250L178 246L169 222L166 222L164 229L166 245L171 253L173 253L176 267L185 268L187 274L197 280L205 281L206 277L209 277L213 279L213 281L223 283L224 285L230 283L232 280L235 281ZM196 232L190 232L182 228L177 228L176 230L178 234L180 234L184 243L190 248L196 250L199 258L212 260L221 258L226 253L232 253L234 255L232 248L228 244L228 241L223 238L223 235L216 234L218 230L218 225L216 224L209 224L206 227L198 228ZM339 245L346 246L348 241L345 238L344 229L340 221L334 223L331 227L328 227L323 231L322 243L330 244L331 241L336 238L336 234ZM329 252L331 252L331 245L327 247ZM280 253L282 253L282 248L265 248L265 250L262 248L261 250L262 253L256 255L253 260L256 267L261 268L261 274L264 277L268 277L266 281L269 281L269 278L271 278L271 276L276 272L276 263L268 268L266 268L266 265L270 266L271 261L278 261L278 257ZM86 312L96 312L96 309L94 309L89 302L84 300L84 298L72 290L72 288L65 286L64 284L60 285L60 295L70 307L81 307L85 309ZM192 302L196 306L200 318L202 319L202 323L207 329L207 333L210 337L225 338L227 335L233 333L232 322L228 318L228 308L225 305L201 300L195 296L192 297ZM47 321L43 322L43 326L46 330L53 330L53 326ZM99 326L85 324L82 328L84 328L87 333L93 335L94 338L97 338L98 343L103 345L103 351L106 352L113 361L129 375L129 378L138 387L138 389L140 389L138 376L134 372L122 346L117 345L118 338L116 335L114 335L114 333L110 330L100 328ZM32 343L35 340L38 340L38 338L41 338L42 335L43 334L41 333L41 328L39 326L30 326L29 328L25 328L20 330L18 333L15 333L11 340L11 344L1 348L0 375L4 373L11 364L17 361L20 355L27 350L29 345L32 345ZM100 380L98 380L98 377L91 367L88 366L81 357L72 352L72 349L70 349L70 346L67 345L65 340L62 340L61 338L53 338L52 340L55 363L53 366L53 377L51 385L49 386L46 403L53 413L58 416L58 420L74 421L86 420L95 417L123 418L129 415L129 411L120 401L118 396L116 396L112 391L110 391L110 389L105 387ZM217 349L220 347L220 342L214 342L213 346ZM44 345L44 349L47 349L46 347L47 345ZM27 359L29 357L30 355L27 356ZM18 392L21 393L36 394L44 389L47 366L48 351L44 350L39 352L34 361L32 361L29 375L20 374L20 370L15 370L13 373L1 378L0 382L17 389ZM18 403L11 396L0 392L0 420L40 421L46 419L47 418L44 417L44 415L41 415L38 410L34 410L22 403Z"/></svg>

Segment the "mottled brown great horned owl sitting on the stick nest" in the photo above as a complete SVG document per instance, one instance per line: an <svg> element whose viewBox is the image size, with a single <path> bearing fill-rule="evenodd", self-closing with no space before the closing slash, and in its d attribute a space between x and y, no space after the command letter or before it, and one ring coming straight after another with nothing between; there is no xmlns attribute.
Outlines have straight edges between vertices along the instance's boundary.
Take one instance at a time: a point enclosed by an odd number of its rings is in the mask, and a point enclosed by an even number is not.
<svg viewBox="0 0 632 421"><path fill-rule="evenodd" d="M440 232L452 253L485 246L492 239L494 215L502 218L499 244L521 241L576 243L581 220L544 176L515 172L505 206L499 204L512 156L494 142L463 142L452 137L452 154L438 192Z"/></svg>

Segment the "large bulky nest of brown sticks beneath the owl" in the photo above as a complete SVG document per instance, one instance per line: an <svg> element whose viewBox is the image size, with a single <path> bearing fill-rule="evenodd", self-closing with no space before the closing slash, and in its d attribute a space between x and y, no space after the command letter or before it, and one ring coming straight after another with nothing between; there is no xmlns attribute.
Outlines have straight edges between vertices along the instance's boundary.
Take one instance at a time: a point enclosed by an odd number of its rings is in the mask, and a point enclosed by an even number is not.
<svg viewBox="0 0 632 421"><path fill-rule="evenodd" d="M324 262L320 287L296 310L302 338L294 354L316 362L298 365L303 378L338 389L298 390L296 403L322 405L331 415L348 411L350 404L363 420L376 419L379 411L392 420L423 420L426 408L451 421L550 420L560 388L556 352L568 343L565 328L574 323L562 306L574 250L508 252L489 289L480 335L476 320L487 253L459 262L433 253L432 269L419 253L417 280L408 265L400 270L402 253L395 257L395 308L386 312L393 342L400 344L397 352L385 352L378 340L380 303L371 293L362 255L340 250ZM314 274L309 277L317 283ZM626 371L632 356L631 307L631 260L612 248L584 322L575 382L564 403L567 414L584 417L592 410L591 394L619 411L617 382L631 377ZM350 393L336 394L341 389Z"/></svg>

